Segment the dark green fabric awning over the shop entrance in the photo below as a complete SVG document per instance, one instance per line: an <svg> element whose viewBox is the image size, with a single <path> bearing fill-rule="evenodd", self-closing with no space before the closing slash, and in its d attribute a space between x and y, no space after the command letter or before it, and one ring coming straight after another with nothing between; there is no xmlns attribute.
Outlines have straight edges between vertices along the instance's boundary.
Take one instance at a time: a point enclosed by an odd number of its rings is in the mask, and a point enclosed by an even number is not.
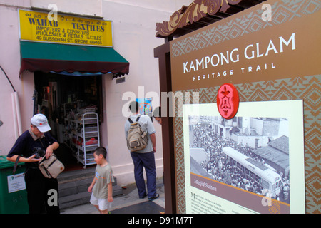
<svg viewBox="0 0 321 228"><path fill-rule="evenodd" d="M125 75L129 63L113 48L20 41L23 71L113 73Z"/></svg>

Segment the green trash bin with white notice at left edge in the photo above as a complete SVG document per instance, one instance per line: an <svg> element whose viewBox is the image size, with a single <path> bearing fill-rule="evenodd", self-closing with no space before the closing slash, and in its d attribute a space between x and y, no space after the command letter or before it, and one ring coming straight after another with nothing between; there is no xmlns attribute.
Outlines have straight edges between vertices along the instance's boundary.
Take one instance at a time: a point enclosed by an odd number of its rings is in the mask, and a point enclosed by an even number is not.
<svg viewBox="0 0 321 228"><path fill-rule="evenodd" d="M15 175L14 162L0 156L0 214L27 214L26 184L24 182L24 163L19 163Z"/></svg>

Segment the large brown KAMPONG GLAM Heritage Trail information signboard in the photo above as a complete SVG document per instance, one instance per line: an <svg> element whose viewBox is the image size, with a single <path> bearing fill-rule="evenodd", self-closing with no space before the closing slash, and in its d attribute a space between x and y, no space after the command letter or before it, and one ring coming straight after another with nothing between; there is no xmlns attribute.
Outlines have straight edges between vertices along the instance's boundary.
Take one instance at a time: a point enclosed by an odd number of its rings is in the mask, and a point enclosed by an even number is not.
<svg viewBox="0 0 321 228"><path fill-rule="evenodd" d="M183 107L173 127L178 212L312 207L305 199L315 191L320 147L320 138L311 137L320 134L320 1L264 4L270 20L258 4L170 41L173 93L198 93L200 103L192 97L175 106ZM225 83L240 99L230 119L216 104Z"/></svg>

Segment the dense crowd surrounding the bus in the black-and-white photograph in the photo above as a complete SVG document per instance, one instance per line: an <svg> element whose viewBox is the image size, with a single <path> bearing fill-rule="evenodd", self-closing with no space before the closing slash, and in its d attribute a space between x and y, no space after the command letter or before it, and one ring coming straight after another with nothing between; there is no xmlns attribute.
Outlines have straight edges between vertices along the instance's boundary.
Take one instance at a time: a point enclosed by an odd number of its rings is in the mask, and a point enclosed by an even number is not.
<svg viewBox="0 0 321 228"><path fill-rule="evenodd" d="M202 162L200 165L208 174L219 182L238 187L243 190L254 192L259 195L265 195L265 190L262 185L255 182L254 178L245 175L245 172L240 170L236 165L230 164L228 157L223 152L223 147L232 147L238 152L252 158L257 162L266 162L262 157L258 157L253 152L253 148L248 145L240 145L231 139L223 139L215 134L210 124L195 124L193 125L193 143L190 147L203 148L208 154L208 161ZM289 181L282 172L279 172L282 177L282 187L280 194L274 198L282 202L290 202L289 199Z"/></svg>

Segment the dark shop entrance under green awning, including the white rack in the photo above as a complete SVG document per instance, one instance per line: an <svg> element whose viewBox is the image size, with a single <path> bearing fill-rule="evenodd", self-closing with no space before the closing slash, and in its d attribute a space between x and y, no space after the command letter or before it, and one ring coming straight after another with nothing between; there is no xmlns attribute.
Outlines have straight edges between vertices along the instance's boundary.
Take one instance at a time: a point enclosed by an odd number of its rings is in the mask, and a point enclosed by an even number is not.
<svg viewBox="0 0 321 228"><path fill-rule="evenodd" d="M34 73L34 113L43 113L66 169L93 165L103 122L101 74ZM83 121L86 118L86 121ZM86 134L86 135L85 135Z"/></svg>

